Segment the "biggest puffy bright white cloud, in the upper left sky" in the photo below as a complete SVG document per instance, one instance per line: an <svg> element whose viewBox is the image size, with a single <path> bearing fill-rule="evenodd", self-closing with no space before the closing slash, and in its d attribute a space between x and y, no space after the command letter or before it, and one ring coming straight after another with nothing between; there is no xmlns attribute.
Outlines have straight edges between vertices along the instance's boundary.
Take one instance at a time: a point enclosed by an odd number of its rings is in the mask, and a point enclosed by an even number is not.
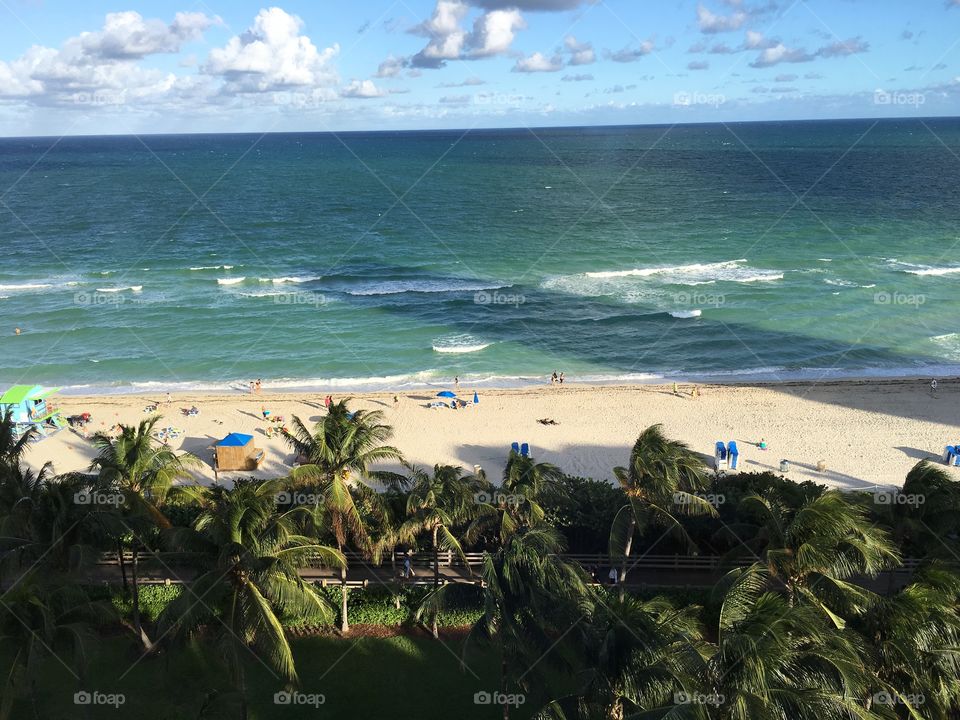
<svg viewBox="0 0 960 720"><path fill-rule="evenodd" d="M302 26L299 17L280 8L261 10L249 30L210 51L203 69L222 77L228 93L334 84L337 74L331 61L340 46L317 50L309 37L300 34Z"/></svg>

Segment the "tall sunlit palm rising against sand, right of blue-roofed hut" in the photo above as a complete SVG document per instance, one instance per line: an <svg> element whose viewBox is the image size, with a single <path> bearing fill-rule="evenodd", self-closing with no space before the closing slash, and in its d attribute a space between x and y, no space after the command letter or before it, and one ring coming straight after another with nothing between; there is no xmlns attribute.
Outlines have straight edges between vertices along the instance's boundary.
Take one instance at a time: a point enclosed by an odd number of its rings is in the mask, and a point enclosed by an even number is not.
<svg viewBox="0 0 960 720"><path fill-rule="evenodd" d="M286 433L286 439L301 461L290 473L295 486L313 488L322 498L337 550L342 552L353 540L361 551L372 555L374 548L351 492L351 483L354 479L361 483L365 479L390 479L385 473L372 472L370 466L401 459L397 448L385 444L393 430L383 422L383 413L379 410L350 412L347 400L341 400L330 406L312 430L296 415L291 424L293 430ZM340 631L347 633L350 623L345 566L340 579Z"/></svg>

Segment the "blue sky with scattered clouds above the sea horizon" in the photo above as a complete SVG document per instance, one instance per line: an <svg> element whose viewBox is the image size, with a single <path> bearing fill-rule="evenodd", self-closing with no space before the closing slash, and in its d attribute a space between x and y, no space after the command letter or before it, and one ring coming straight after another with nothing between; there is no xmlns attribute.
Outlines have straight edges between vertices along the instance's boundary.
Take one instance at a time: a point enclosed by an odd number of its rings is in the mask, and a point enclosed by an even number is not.
<svg viewBox="0 0 960 720"><path fill-rule="evenodd" d="M0 0L0 136L960 115L960 0Z"/></svg>

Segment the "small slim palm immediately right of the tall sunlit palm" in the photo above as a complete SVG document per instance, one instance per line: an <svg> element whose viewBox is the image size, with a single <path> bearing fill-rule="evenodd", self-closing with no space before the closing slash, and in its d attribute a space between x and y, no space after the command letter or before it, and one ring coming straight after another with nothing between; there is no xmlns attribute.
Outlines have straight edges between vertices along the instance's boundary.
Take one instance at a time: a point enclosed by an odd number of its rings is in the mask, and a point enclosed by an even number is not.
<svg viewBox="0 0 960 720"><path fill-rule="evenodd" d="M400 527L400 537L413 541L426 532L433 550L433 584L440 584L440 549L457 554L466 565L466 556L454 528L465 521L475 507L477 483L463 469L452 465L434 465L433 475L411 467L413 477L407 495L407 521Z"/></svg>

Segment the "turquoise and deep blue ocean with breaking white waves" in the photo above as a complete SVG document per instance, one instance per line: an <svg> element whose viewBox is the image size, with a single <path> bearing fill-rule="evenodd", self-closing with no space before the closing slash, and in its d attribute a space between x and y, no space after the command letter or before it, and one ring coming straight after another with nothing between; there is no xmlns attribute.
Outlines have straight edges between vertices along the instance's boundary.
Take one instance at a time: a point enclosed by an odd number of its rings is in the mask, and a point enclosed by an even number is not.
<svg viewBox="0 0 960 720"><path fill-rule="evenodd" d="M955 374L958 157L955 120L0 140L0 384Z"/></svg>

